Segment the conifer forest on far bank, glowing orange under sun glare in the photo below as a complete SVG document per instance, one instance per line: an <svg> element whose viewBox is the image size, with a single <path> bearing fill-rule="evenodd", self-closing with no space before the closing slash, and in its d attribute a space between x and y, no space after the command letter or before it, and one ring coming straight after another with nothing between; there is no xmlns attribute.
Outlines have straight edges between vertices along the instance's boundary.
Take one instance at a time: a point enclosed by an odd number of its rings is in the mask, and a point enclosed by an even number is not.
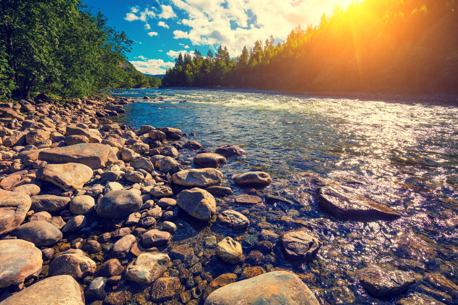
<svg viewBox="0 0 458 305"><path fill-rule="evenodd" d="M284 91L458 92L458 2L353 1L318 25L271 36L236 58L219 46L181 54L162 80L170 87Z"/></svg>

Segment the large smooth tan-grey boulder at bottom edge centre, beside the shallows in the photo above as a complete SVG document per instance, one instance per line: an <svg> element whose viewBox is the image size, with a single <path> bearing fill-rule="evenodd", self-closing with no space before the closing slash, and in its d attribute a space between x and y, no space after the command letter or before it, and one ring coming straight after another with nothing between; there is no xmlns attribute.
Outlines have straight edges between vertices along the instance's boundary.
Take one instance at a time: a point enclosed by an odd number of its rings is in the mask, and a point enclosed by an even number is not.
<svg viewBox="0 0 458 305"><path fill-rule="evenodd" d="M294 273L273 271L213 291L204 305L320 305L310 289Z"/></svg>

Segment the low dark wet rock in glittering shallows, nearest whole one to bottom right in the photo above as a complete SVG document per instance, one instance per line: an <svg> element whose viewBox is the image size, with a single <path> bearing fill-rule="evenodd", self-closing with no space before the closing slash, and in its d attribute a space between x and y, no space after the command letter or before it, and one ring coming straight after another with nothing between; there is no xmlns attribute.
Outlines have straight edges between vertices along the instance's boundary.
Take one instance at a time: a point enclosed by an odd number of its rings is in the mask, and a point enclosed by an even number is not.
<svg viewBox="0 0 458 305"><path fill-rule="evenodd" d="M415 283L414 276L409 272L376 265L365 267L358 273L361 285L377 296L396 294Z"/></svg>

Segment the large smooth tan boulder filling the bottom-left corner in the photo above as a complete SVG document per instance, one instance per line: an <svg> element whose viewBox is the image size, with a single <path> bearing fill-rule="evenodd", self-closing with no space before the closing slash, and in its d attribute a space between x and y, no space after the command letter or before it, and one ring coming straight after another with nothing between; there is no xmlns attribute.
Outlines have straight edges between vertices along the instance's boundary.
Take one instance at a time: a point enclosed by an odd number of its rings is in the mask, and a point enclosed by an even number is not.
<svg viewBox="0 0 458 305"><path fill-rule="evenodd" d="M45 292L45 293L44 293ZM65 292L65 293L63 293ZM1 302L2 305L84 305L81 286L69 275L34 283Z"/></svg>

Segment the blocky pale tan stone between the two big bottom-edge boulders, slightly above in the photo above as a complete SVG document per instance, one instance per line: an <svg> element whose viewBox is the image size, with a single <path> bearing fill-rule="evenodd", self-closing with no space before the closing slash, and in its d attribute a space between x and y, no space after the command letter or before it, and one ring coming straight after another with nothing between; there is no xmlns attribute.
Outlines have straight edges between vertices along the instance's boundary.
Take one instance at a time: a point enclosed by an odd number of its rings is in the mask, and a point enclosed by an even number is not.
<svg viewBox="0 0 458 305"><path fill-rule="evenodd" d="M164 253L142 253L127 265L124 277L141 284L153 283L164 274L169 261Z"/></svg>

